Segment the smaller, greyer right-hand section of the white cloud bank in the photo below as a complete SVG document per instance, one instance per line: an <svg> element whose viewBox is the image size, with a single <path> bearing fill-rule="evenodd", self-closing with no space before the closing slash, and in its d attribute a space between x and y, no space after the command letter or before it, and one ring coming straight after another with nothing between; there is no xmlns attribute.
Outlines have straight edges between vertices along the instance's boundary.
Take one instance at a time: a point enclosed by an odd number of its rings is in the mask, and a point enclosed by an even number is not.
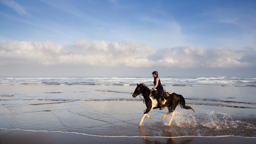
<svg viewBox="0 0 256 144"><path fill-rule="evenodd" d="M179 68L232 68L232 67L250 67L255 64L247 61L240 61L242 58L254 53L250 50L236 50L228 47L209 48L194 46L179 46L174 48L160 49L154 55L159 64L166 67Z"/></svg>

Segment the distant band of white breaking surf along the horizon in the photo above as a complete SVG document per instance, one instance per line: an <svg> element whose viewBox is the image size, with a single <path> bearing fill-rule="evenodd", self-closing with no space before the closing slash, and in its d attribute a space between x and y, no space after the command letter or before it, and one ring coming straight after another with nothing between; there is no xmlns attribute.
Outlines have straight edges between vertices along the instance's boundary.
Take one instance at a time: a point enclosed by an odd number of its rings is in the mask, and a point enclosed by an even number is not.
<svg viewBox="0 0 256 144"><path fill-rule="evenodd" d="M161 77L163 85L172 86L256 86L255 77ZM0 84L7 85L152 85L152 77L6 77Z"/></svg>

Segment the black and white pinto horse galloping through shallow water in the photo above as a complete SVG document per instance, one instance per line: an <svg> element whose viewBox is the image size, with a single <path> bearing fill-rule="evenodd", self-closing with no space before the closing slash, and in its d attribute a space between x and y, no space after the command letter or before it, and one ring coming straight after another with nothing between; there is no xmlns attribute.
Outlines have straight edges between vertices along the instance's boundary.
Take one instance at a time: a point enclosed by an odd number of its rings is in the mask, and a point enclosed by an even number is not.
<svg viewBox="0 0 256 144"><path fill-rule="evenodd" d="M143 95L147 108L144 110L144 114L143 114L143 117L141 119L141 122L140 122L139 126L142 125L145 116L147 118L153 119L150 115L147 115L147 113L150 110L160 108L160 106L157 102L157 99L155 99L154 96L152 96L152 93L151 93L150 89L146 85L144 85L143 83L137 84L137 87L136 87L134 93L132 94L132 96L134 98L136 98L136 96L138 96L140 94ZM185 105L185 99L181 95L178 95L176 93L171 93L170 96L166 97L164 99L164 102L163 102L163 106L164 107L167 106L169 111L166 114L163 115L162 120L164 120L164 118L168 114L172 113L172 118L169 121L168 125L171 124L171 122L173 120L173 117L175 116L175 108L177 107L177 105L179 105L181 108L184 108L184 109L192 109L190 106Z"/></svg>

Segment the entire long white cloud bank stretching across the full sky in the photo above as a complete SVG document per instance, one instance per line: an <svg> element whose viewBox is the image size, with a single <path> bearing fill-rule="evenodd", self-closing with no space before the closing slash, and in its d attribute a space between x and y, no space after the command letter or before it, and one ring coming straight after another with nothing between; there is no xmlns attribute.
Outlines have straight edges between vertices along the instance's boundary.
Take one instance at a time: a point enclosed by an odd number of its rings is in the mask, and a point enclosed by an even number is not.
<svg viewBox="0 0 256 144"><path fill-rule="evenodd" d="M0 42L0 65L81 65L96 67L255 67L253 48L236 50L179 46L155 50L133 41L108 42L77 40L71 45L51 41Z"/></svg>

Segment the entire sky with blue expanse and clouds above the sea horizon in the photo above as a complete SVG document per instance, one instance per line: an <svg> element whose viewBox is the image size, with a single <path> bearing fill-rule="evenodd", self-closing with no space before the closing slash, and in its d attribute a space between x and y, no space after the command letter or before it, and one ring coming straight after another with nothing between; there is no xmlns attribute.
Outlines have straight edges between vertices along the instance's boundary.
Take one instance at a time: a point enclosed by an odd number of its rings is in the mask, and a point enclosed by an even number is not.
<svg viewBox="0 0 256 144"><path fill-rule="evenodd" d="M255 0L0 0L0 75L256 76Z"/></svg>

